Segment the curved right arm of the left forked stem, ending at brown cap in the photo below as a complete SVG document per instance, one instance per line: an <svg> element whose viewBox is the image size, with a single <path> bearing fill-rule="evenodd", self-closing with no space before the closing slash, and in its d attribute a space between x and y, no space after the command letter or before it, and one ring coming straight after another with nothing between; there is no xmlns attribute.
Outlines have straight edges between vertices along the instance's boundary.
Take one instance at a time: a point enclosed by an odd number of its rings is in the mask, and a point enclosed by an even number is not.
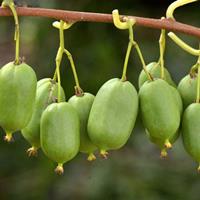
<svg viewBox="0 0 200 200"><path fill-rule="evenodd" d="M76 84L75 93L76 93L77 96L82 96L83 91L82 91L80 84L79 84L79 79L78 79L78 75L77 75L77 72L76 72L76 67L75 67L75 64L74 64L72 54L67 49L64 49L64 53L67 55L67 58L69 59L69 62L70 62L71 68L72 68L74 81L75 81L75 84Z"/></svg>

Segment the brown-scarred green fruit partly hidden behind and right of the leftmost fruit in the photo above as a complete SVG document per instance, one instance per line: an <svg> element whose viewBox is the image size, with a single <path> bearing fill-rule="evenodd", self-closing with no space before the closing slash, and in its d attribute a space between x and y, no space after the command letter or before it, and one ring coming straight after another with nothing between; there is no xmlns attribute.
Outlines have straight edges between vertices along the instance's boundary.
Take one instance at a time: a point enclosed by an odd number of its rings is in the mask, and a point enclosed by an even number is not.
<svg viewBox="0 0 200 200"><path fill-rule="evenodd" d="M22 129L24 138L36 148L40 147L40 118L45 108L58 98L58 84L50 78L37 83L37 92L33 115L28 125ZM65 101L65 93L61 88L61 101Z"/></svg>

